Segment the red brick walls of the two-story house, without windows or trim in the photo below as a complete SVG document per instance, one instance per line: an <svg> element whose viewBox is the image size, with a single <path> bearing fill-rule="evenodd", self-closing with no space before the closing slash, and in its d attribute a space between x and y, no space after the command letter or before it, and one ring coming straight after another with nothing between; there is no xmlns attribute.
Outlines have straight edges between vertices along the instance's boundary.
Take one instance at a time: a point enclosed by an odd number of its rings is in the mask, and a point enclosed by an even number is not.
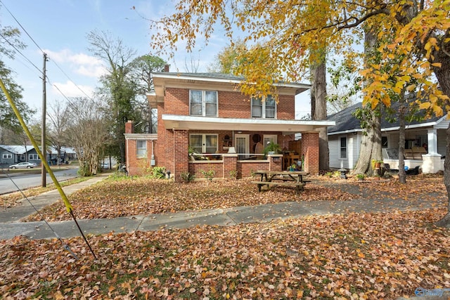
<svg viewBox="0 0 450 300"><path fill-rule="evenodd" d="M172 83L173 84L173 83ZM198 84L193 81L193 84ZM248 131L245 125L238 130L210 130L210 129L186 129L179 127L179 129L167 129L165 122L162 120L163 115L188 116L189 112L189 96L190 89L198 89L204 91L217 90L217 110L219 118L235 118L235 119L251 119L251 100L250 97L243 95L240 91L232 90L230 87L215 89L214 81L208 81L203 86L190 86L184 81L180 81L180 87L165 86L164 101L157 101L158 104L158 139L153 141L154 157L156 165L165 167L171 172L171 175L176 181L181 181L180 174L189 172L194 174L196 178L203 178L202 170L214 170L216 178L230 178L236 174L237 178L249 177L252 172L257 170L281 170L282 157L280 155L268 156L267 159L257 157L254 160L238 160L238 155L228 154L229 146L234 146L233 137L236 132L245 134L249 137L250 153L255 153L255 145L258 141L254 141L252 136L259 134L276 135L278 144L281 148L287 149L289 142L295 138L294 134L284 134L281 131L267 131L269 126L264 128L264 131ZM176 84L178 86L178 84ZM208 87L206 87L208 86ZM223 86L223 85L222 85ZM160 96L162 97L162 96ZM153 106L155 107L155 106ZM279 120L293 120L295 119L295 96L281 94L276 106L276 119ZM126 133L132 132L132 123L125 124ZM240 131L243 131L241 133ZM188 155L189 135L192 133L210 133L217 134L218 153L223 155L220 160L210 161L195 161L191 162ZM230 142L226 139L230 138ZM262 142L262 141L261 141ZM228 145L229 143L229 145ZM151 148L151 147L150 147ZM148 147L148 149L150 149ZM150 150L149 150L150 151ZM127 140L127 152L132 157L136 153L136 141ZM302 133L302 155L304 155L304 169L310 174L319 173L319 135L315 132ZM149 152L148 157L151 153ZM145 159L127 158L127 166L129 174L138 172L142 167L148 166ZM148 160L148 159L147 159Z"/></svg>

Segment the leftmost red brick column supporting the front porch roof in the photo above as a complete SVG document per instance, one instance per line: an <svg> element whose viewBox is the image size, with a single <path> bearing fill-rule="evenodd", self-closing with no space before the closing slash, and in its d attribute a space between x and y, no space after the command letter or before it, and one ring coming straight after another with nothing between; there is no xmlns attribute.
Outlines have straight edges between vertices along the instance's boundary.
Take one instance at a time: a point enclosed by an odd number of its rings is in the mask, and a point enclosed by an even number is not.
<svg viewBox="0 0 450 300"><path fill-rule="evenodd" d="M181 182L181 173L189 171L189 131L174 130L174 169L169 170L175 182Z"/></svg>

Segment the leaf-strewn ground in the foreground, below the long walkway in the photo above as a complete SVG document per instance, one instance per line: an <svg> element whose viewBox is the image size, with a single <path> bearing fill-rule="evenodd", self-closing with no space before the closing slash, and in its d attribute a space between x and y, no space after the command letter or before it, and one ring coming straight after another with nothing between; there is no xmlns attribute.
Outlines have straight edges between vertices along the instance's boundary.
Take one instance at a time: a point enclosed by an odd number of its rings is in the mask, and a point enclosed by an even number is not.
<svg viewBox="0 0 450 300"><path fill-rule="evenodd" d="M450 287L444 210L0 241L3 299L396 299Z"/></svg>

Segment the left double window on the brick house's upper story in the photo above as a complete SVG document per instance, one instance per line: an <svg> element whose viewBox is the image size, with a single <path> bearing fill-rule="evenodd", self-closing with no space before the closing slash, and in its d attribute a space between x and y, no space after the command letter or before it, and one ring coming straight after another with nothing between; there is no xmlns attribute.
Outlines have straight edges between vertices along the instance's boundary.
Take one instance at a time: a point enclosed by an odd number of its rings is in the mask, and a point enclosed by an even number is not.
<svg viewBox="0 0 450 300"><path fill-rule="evenodd" d="M217 117L217 91L191 90L189 110L192 116Z"/></svg>

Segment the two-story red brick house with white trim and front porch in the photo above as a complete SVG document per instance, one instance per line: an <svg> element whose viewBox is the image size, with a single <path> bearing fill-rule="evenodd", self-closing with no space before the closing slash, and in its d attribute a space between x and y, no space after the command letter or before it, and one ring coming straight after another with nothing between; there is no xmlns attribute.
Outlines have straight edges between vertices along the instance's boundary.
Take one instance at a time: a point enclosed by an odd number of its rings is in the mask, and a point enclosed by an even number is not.
<svg viewBox="0 0 450 300"><path fill-rule="evenodd" d="M139 174L150 166L165 167L180 181L189 172L214 170L215 177L250 176L260 169L281 170L283 155L262 155L270 141L303 158L303 169L319 173L319 133L329 121L295 119L295 95L308 84L277 84L278 103L243 95L242 78L217 73L153 74L155 92L148 94L151 107L158 108L158 133L133 133L126 124L127 170ZM302 141L293 149L295 133ZM190 152L198 153L190 155Z"/></svg>

